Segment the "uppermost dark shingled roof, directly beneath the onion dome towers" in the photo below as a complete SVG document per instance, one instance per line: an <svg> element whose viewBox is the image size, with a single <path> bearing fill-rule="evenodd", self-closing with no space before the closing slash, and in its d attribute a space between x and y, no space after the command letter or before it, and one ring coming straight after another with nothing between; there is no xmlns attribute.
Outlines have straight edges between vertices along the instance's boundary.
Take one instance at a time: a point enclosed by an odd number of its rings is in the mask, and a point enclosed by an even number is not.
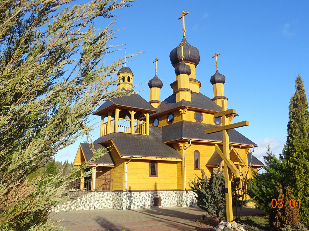
<svg viewBox="0 0 309 231"><path fill-rule="evenodd" d="M152 115L156 115L160 112L168 111L170 109L177 108L180 106L193 107L197 109L204 109L207 111L214 111L214 112L221 111L221 107L219 107L216 103L214 103L214 101L212 101L207 96L201 93L192 92L191 102L181 100L180 102L176 103L176 94L170 95L169 97L167 97L167 99L164 99L163 102L156 108L156 110L159 112L155 112Z"/></svg>

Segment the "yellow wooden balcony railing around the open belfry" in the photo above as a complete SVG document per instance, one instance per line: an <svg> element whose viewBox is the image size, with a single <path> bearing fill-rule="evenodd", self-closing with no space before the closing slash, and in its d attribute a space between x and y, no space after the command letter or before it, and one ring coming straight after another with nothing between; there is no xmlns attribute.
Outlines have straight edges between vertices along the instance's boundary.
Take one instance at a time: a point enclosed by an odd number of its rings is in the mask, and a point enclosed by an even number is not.
<svg viewBox="0 0 309 231"><path fill-rule="evenodd" d="M107 122L102 124L102 135L105 136L109 133L115 132L115 119L110 121L110 132L108 133ZM146 135L146 122L140 120L134 120L133 126L134 134ZM119 119L118 120L118 132L131 133L131 120Z"/></svg>

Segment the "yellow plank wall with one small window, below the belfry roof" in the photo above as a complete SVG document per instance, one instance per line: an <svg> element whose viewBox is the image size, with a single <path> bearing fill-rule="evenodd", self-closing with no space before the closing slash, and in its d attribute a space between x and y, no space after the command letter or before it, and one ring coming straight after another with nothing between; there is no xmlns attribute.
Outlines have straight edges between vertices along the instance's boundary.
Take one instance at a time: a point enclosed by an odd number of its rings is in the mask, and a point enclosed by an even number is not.
<svg viewBox="0 0 309 231"><path fill-rule="evenodd" d="M150 161L132 159L128 163L127 190L176 190L176 161L156 162L158 163L158 177L149 177Z"/></svg>

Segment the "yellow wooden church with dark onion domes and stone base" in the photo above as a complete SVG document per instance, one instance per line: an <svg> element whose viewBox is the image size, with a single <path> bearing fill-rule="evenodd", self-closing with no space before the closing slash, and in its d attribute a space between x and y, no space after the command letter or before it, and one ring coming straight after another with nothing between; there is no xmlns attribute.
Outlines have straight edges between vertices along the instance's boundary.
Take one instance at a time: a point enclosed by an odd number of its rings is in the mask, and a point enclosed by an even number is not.
<svg viewBox="0 0 309 231"><path fill-rule="evenodd" d="M224 116L227 121L224 125L228 127L238 115L233 109L221 117L215 116L223 111L224 103L227 105L225 76L218 72L217 53L214 56L217 71L210 77L214 96L208 98L199 92L201 82L195 69L200 54L186 40L185 14L183 12L180 17L183 38L170 52L176 74L175 79L171 78L171 95L160 99L163 83L155 72L148 82L150 101L131 94L108 100L93 113L101 120L100 136L94 141L95 150L103 149L106 154L91 161L90 145L81 143L74 166L87 163L88 168L92 168L89 179L84 179L81 172L81 189L95 191L96 200L102 204L100 208L195 206L190 181L195 175L201 175L201 169L210 177L210 172L218 166L221 165L223 171L226 168L216 149L217 145L223 150L222 118ZM118 88L133 86L133 72L129 67L120 68L117 77ZM206 134L206 130L215 128L218 132ZM257 145L231 128L228 130L228 159L242 178L241 173L248 168L257 170L264 165L249 152ZM251 171L249 174L251 177ZM87 187L86 181L90 182ZM246 190L246 186L247 182L242 179L241 187Z"/></svg>

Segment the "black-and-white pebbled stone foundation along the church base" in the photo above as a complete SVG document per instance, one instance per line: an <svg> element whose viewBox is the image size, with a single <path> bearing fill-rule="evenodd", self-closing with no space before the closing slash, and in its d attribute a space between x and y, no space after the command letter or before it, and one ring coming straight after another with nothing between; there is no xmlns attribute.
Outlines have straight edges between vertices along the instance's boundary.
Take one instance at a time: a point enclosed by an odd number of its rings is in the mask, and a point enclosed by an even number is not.
<svg viewBox="0 0 309 231"><path fill-rule="evenodd" d="M70 199L55 206L52 212L92 210L92 209L135 209L153 208L154 198L161 198L160 207L196 206L192 191L140 191L140 192L88 192L76 199Z"/></svg>

